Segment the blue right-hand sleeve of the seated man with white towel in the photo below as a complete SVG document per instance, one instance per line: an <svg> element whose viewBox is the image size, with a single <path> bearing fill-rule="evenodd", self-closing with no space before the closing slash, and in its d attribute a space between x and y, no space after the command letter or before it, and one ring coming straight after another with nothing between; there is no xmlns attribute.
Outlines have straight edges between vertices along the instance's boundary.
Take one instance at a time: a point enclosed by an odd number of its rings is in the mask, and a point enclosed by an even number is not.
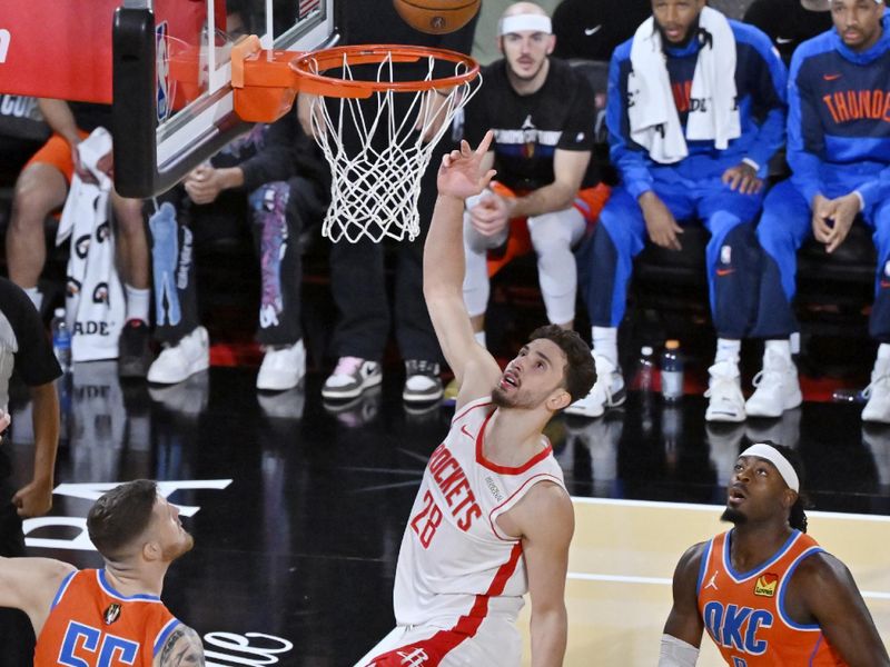
<svg viewBox="0 0 890 667"><path fill-rule="evenodd" d="M754 62L758 63L758 74L752 90L753 106L763 121L760 123L748 158L756 162L765 176L767 165L785 142L788 72L770 39L759 30L752 32L754 32L752 36Z"/></svg>

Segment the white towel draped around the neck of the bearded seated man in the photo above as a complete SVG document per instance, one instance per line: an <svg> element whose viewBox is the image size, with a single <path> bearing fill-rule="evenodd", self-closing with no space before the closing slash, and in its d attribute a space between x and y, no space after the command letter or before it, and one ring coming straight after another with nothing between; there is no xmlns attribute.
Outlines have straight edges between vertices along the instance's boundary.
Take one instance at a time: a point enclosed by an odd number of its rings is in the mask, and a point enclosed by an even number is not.
<svg viewBox="0 0 890 667"><path fill-rule="evenodd" d="M631 46L627 78L627 117L631 139L661 163L679 162L689 155L686 139L713 140L722 150L741 133L735 89L735 37L726 18L705 7L699 17L701 41L692 77L686 135L680 125L671 81L654 18L636 30Z"/></svg>

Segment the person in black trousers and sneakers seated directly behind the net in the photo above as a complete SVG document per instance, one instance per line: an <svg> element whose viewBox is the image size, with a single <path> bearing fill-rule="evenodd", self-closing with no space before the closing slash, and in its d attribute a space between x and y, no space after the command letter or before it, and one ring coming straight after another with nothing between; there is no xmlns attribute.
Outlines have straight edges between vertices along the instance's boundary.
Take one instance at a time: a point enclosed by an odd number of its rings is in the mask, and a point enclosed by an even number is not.
<svg viewBox="0 0 890 667"><path fill-rule="evenodd" d="M368 20L374 17L374 20ZM468 53L475 18L448 34L426 34L405 23L390 2L350 0L344 17L345 40L348 44L397 43L449 49ZM423 78L426 63L399 67L405 78ZM412 74L415 73L414 77ZM441 97L441 96L437 96ZM395 96L399 113L407 113L405 98ZM306 98L301 102L306 107ZM344 119L344 145L347 151L355 146L354 121ZM348 126L348 127L347 127ZM304 128L306 128L304 120ZM426 228L436 198L435 177L442 156L454 146L448 135L433 152L431 166L422 177L418 210L421 236L413 242L393 246L395 260L395 295L390 302L385 273L385 243L363 238L356 243L340 241L330 248L330 289L339 319L334 331L334 354L337 365L322 388L328 407L359 397L383 380L383 361L390 320L394 319L398 350L405 362L405 384L402 397L407 404L432 404L443 394L439 378L442 351L436 341L429 313L423 299L422 253ZM388 148L388 147L386 147ZM369 192L369 195L373 195Z"/></svg>

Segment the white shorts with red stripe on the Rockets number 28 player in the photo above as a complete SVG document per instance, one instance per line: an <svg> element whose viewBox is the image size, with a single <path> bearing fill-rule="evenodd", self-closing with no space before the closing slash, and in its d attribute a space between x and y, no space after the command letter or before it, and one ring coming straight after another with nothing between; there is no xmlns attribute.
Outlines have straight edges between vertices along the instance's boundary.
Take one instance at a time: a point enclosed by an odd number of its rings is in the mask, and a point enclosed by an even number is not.
<svg viewBox="0 0 890 667"><path fill-rule="evenodd" d="M518 667L521 660L515 620L492 615L473 636L454 626L398 626L355 667Z"/></svg>

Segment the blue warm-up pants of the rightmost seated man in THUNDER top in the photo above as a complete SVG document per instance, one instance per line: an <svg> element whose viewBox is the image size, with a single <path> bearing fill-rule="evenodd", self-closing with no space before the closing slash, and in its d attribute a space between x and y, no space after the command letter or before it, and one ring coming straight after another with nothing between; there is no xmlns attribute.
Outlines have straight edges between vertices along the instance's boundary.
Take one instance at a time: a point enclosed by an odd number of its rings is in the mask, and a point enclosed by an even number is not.
<svg viewBox="0 0 890 667"><path fill-rule="evenodd" d="M827 183L830 199L847 195L854 186ZM874 305L871 309L869 334L876 340L890 342L890 200L867 208L862 221L872 231L878 249L878 271L874 280ZM760 285L754 335L761 338L785 338L797 330L791 308L797 290L798 249L813 233L812 209L790 180L777 185L763 205L758 226L758 240L765 251Z"/></svg>

